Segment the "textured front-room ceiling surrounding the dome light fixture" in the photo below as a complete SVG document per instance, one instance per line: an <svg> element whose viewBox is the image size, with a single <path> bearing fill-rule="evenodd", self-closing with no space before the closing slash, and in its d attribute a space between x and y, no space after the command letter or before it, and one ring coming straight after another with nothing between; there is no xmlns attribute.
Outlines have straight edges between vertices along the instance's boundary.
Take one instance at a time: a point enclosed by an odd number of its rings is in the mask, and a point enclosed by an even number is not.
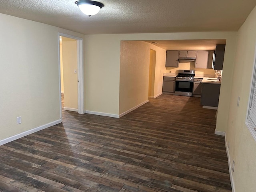
<svg viewBox="0 0 256 192"><path fill-rule="evenodd" d="M0 13L82 34L237 31L256 0L98 0L90 18L75 0L0 0Z"/></svg>

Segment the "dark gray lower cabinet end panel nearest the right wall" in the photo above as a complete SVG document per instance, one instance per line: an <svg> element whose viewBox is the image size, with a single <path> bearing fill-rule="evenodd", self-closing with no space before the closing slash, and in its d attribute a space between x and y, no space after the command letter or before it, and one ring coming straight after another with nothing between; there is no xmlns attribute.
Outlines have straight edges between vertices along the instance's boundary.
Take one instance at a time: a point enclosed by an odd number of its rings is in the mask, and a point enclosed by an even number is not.
<svg viewBox="0 0 256 192"><path fill-rule="evenodd" d="M218 107L220 97L220 84L202 83L201 105Z"/></svg>

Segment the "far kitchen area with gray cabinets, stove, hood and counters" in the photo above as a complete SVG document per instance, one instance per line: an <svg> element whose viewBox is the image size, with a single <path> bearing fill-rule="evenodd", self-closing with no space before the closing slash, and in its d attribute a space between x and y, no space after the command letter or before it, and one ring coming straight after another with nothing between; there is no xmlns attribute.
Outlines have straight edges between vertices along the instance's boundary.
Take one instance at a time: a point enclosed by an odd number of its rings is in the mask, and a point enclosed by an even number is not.
<svg viewBox="0 0 256 192"><path fill-rule="evenodd" d="M225 44L212 50L167 50L163 94L200 97L203 108L218 109Z"/></svg>

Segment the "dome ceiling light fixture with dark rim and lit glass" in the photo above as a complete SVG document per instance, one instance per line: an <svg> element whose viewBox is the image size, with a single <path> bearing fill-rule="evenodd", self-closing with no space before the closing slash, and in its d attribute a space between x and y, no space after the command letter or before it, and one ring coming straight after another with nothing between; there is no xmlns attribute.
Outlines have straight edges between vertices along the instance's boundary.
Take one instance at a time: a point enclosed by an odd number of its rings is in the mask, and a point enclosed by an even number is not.
<svg viewBox="0 0 256 192"><path fill-rule="evenodd" d="M96 1L86 1L86 0L80 0L76 1L75 4L80 8L80 10L88 15L89 17L92 15L96 15L100 9L104 6L100 2Z"/></svg>

